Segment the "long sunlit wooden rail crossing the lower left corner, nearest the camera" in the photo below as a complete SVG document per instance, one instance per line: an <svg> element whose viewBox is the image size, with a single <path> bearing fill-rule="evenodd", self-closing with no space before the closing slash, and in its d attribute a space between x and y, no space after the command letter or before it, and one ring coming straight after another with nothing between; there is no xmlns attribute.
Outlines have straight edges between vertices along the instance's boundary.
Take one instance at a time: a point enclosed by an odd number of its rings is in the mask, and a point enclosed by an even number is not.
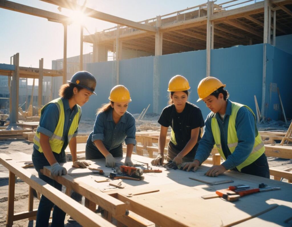
<svg viewBox="0 0 292 227"><path fill-rule="evenodd" d="M22 169L15 161L9 159L10 157L8 155L0 154L0 163L9 171L11 171L12 177L14 177L15 175L18 176L24 182L28 183L37 191L41 192L41 194L45 195L64 212L72 216L77 222L82 223L84 226L114 226L111 223L105 221L102 217L92 212L91 210L71 199L67 195L64 195L58 189L54 188L53 186L49 185L38 177L30 174L28 171ZM13 183L14 182L15 180L13 178ZM14 195L12 200L14 202ZM11 212L11 209L8 209L8 213L9 212Z"/></svg>

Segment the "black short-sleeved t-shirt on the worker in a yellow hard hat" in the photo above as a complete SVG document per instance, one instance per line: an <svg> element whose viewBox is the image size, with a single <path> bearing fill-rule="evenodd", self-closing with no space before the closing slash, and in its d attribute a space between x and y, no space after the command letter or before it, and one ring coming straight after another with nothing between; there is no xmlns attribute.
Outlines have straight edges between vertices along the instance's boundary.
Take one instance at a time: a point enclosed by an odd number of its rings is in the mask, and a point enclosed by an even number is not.
<svg viewBox="0 0 292 227"><path fill-rule="evenodd" d="M186 103L181 113L176 112L174 104L165 107L158 119L158 123L164 127L171 127L173 131L171 133L171 143L178 150L183 150L187 142L189 142L192 129L205 126L200 108L192 103ZM201 129L196 145L186 157L194 157L200 139Z"/></svg>

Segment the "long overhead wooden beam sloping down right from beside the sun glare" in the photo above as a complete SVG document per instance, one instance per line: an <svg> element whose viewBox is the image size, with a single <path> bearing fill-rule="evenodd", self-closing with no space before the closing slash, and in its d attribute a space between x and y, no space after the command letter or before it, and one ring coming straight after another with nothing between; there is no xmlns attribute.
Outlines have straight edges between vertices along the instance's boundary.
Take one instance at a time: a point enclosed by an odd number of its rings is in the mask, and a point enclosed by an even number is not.
<svg viewBox="0 0 292 227"><path fill-rule="evenodd" d="M63 8L68 8L68 9L72 9L72 2L67 1L67 0L41 0L41 1L45 1L51 4L55 4L57 6L61 6ZM79 5L74 5L75 7L81 7ZM142 31L148 31L148 32L156 32L156 27L150 26L150 25L145 25L145 24L140 24L138 22L132 21L132 20L127 20L124 18L120 18L117 16L113 16L107 13L102 13L100 11L96 11L94 9L91 8L87 8L87 7L82 7L81 8L83 13L85 15L87 15L88 17L92 17L98 20L104 20L107 22L111 22L114 24L119 24L119 25L125 25L128 27L133 27Z"/></svg>

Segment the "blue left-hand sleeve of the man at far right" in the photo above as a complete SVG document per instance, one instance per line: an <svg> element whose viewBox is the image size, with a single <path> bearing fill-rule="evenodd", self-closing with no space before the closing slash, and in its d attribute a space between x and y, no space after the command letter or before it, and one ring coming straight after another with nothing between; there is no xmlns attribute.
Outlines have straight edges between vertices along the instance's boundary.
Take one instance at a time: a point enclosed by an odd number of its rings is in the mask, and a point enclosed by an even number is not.
<svg viewBox="0 0 292 227"><path fill-rule="evenodd" d="M207 117L205 121L205 132L202 139L199 142L199 146L194 159L199 160L202 164L210 155L215 141L211 129L211 117Z"/></svg>

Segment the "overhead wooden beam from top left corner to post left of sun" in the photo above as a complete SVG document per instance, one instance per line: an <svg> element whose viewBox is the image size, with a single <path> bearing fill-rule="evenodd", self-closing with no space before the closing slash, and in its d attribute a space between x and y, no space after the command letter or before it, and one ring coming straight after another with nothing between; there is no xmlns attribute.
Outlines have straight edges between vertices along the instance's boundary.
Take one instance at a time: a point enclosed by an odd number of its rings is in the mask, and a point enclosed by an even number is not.
<svg viewBox="0 0 292 227"><path fill-rule="evenodd" d="M31 6L22 5L16 2L12 2L12 1L0 0L0 8L46 18L54 22L59 22L59 23L69 22L69 18L64 15L34 8Z"/></svg>

